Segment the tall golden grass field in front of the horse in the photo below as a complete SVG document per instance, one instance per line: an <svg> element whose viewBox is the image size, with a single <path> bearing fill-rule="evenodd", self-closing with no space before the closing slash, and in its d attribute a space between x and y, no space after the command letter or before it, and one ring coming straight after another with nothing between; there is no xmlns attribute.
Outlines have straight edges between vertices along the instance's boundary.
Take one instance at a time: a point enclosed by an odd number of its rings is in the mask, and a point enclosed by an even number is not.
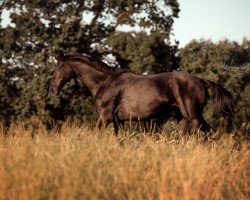
<svg viewBox="0 0 250 200"><path fill-rule="evenodd" d="M0 199L250 199L250 145L222 134L0 130Z"/></svg>

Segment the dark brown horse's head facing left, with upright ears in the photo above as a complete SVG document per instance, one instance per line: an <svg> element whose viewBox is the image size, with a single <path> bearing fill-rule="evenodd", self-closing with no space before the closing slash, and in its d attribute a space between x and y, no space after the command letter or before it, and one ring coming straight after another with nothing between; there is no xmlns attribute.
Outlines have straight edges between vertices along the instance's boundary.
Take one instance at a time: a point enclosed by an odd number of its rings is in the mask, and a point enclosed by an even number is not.
<svg viewBox="0 0 250 200"><path fill-rule="evenodd" d="M67 62L67 55L64 52L60 51L55 58L57 64L49 88L52 95L56 95L74 76L72 66Z"/></svg>

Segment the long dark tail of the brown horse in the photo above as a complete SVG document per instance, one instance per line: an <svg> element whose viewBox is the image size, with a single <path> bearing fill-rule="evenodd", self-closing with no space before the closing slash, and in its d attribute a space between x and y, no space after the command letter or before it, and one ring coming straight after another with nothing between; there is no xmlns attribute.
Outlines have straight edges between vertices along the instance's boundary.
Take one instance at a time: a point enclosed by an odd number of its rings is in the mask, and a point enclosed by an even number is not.
<svg viewBox="0 0 250 200"><path fill-rule="evenodd" d="M210 98L217 112L227 118L228 129L231 129L235 104L233 95L217 83L208 80L205 80L205 82L207 88L211 90Z"/></svg>

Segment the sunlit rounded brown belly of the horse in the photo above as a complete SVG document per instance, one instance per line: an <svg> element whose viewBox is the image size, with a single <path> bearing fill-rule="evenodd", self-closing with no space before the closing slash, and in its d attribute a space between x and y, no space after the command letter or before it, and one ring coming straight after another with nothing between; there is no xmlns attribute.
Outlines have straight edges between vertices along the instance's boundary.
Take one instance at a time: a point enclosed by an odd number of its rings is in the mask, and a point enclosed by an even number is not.
<svg viewBox="0 0 250 200"><path fill-rule="evenodd" d="M124 120L151 118L168 104L168 96L163 89L157 87L152 80L140 79L130 85L128 83L123 90L118 105L118 117Z"/></svg>

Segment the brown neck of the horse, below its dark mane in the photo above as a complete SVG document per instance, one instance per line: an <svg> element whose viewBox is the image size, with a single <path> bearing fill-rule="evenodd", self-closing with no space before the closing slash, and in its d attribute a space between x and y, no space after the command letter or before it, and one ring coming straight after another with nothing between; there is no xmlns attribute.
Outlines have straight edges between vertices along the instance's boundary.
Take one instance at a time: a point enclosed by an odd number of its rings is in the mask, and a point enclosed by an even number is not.
<svg viewBox="0 0 250 200"><path fill-rule="evenodd" d="M81 80L93 96L96 96L102 83L109 78L108 74L100 72L84 63L77 63L72 66L77 78Z"/></svg>

